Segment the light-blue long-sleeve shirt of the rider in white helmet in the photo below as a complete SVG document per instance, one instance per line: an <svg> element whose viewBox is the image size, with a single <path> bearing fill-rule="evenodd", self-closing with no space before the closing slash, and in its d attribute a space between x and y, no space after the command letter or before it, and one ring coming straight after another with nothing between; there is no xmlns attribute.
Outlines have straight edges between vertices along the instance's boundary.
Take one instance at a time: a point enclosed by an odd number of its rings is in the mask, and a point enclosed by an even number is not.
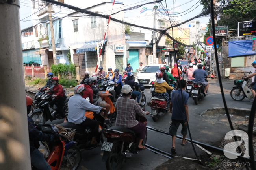
<svg viewBox="0 0 256 170"><path fill-rule="evenodd" d="M85 112L86 110L90 110L96 112L97 114L100 113L101 107L95 106L89 103L86 99L82 98L80 94L75 94L70 97L68 102L69 107L69 114L68 119L69 122L74 124L80 124L85 121Z"/></svg>

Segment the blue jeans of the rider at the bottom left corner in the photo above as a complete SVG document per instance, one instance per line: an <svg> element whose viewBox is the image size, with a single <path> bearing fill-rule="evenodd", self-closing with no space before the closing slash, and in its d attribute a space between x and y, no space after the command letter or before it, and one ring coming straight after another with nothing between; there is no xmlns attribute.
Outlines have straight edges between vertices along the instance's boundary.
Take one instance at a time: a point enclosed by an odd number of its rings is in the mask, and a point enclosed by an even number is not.
<svg viewBox="0 0 256 170"><path fill-rule="evenodd" d="M52 170L51 166L46 162L44 155L35 148L31 155L31 165L37 170Z"/></svg>

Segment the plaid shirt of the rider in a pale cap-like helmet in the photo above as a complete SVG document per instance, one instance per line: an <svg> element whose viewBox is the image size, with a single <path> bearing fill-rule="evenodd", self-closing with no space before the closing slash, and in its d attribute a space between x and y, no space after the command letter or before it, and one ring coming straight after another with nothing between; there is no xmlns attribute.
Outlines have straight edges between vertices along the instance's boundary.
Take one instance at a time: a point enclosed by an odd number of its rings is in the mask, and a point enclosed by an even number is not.
<svg viewBox="0 0 256 170"><path fill-rule="evenodd" d="M130 97L119 97L115 104L115 109L117 110L115 126L125 128L132 128L139 124L136 120L136 113L144 117L146 115L146 112L139 107L139 104L135 100L130 99Z"/></svg>

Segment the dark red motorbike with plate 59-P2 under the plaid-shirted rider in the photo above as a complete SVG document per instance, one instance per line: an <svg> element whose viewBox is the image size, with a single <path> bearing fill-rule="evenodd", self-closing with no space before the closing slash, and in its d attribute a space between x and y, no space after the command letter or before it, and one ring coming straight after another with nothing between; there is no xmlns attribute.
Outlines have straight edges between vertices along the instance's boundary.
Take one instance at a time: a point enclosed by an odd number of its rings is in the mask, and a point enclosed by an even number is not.
<svg viewBox="0 0 256 170"><path fill-rule="evenodd" d="M136 115L136 120L147 126L147 119L143 116ZM107 141L102 144L101 150L104 151L102 161L106 162L107 170L119 170L122 166L123 159L129 159L137 154L138 150L137 138L138 135L133 130L120 126L112 126L104 129L104 136ZM147 142L147 129L142 145Z"/></svg>

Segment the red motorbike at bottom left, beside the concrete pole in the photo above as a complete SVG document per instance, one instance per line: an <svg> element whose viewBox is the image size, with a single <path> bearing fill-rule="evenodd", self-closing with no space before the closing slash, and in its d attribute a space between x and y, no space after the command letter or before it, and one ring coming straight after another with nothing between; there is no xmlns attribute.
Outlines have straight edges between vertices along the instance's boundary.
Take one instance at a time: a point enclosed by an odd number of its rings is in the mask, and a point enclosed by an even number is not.
<svg viewBox="0 0 256 170"><path fill-rule="evenodd" d="M52 124L37 125L37 129L46 134L59 133L58 128ZM46 162L52 170L77 170L81 163L82 153L76 146L76 142L72 141L72 135L70 135L75 129L66 130L68 132L65 135L60 135L60 140L46 143L50 149ZM32 170L37 169L32 167Z"/></svg>

